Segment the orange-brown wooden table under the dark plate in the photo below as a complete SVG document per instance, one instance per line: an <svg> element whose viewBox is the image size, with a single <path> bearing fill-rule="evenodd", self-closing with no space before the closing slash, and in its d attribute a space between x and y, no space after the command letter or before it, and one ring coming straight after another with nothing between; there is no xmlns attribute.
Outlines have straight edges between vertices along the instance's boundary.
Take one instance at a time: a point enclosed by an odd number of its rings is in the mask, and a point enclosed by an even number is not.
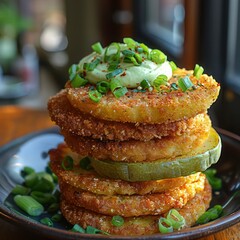
<svg viewBox="0 0 240 240"><path fill-rule="evenodd" d="M15 106L0 107L0 146L32 131L53 126L46 111L18 108ZM28 232L0 219L1 240L43 239L38 233ZM44 238L46 240L46 238ZM201 240L239 240L240 223Z"/></svg>

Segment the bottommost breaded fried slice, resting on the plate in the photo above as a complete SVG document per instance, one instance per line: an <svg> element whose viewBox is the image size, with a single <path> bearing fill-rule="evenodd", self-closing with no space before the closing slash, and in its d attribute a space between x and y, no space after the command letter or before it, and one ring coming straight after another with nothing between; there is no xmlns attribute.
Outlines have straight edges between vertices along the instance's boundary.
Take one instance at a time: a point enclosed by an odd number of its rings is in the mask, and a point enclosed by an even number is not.
<svg viewBox="0 0 240 240"><path fill-rule="evenodd" d="M177 209L186 220L185 228L194 225L196 220L207 210L211 197L211 187L206 181L203 191L197 193L183 208ZM79 224L84 228L93 226L113 235L135 236L159 233L158 220L160 216L124 218L123 226L115 227L111 224L111 216L74 206L67 203L65 199L61 201L61 211L71 224Z"/></svg>

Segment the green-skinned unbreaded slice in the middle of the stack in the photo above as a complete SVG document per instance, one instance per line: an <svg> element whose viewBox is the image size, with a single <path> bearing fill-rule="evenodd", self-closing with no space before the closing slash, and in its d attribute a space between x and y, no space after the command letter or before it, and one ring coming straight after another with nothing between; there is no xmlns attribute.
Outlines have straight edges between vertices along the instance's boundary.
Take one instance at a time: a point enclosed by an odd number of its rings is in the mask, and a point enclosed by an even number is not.
<svg viewBox="0 0 240 240"><path fill-rule="evenodd" d="M92 159L91 165L101 176L130 182L174 178L205 171L218 161L221 147L220 136L212 128L208 139L201 147L175 159L142 163Z"/></svg>

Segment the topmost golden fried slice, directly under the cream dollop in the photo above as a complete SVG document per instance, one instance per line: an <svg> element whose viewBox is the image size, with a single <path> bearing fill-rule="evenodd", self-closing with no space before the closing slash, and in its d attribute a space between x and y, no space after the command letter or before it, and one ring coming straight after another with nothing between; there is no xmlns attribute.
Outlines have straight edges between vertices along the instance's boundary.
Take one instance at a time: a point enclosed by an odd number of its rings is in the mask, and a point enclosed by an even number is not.
<svg viewBox="0 0 240 240"><path fill-rule="evenodd" d="M174 73L169 83L176 82L184 71ZM189 71L185 71L187 74ZM120 98L108 92L96 103L89 98L89 86L85 86L68 88L67 97L72 106L100 119L133 123L174 122L206 112L218 97L220 86L211 76L203 74L199 80L193 75L189 77L196 86L195 90L142 93L129 89Z"/></svg>

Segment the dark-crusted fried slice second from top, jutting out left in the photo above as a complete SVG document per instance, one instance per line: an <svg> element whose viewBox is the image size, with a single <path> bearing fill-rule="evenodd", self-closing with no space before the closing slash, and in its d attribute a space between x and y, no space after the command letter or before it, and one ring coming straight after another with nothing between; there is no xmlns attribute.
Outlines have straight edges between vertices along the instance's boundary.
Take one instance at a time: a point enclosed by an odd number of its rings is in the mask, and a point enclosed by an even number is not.
<svg viewBox="0 0 240 240"><path fill-rule="evenodd" d="M65 131L101 140L141 140L148 141L163 136L179 136L188 133L201 122L205 114L189 119L163 124L123 123L97 119L74 108L67 99L67 90L62 90L48 101L51 119Z"/></svg>

